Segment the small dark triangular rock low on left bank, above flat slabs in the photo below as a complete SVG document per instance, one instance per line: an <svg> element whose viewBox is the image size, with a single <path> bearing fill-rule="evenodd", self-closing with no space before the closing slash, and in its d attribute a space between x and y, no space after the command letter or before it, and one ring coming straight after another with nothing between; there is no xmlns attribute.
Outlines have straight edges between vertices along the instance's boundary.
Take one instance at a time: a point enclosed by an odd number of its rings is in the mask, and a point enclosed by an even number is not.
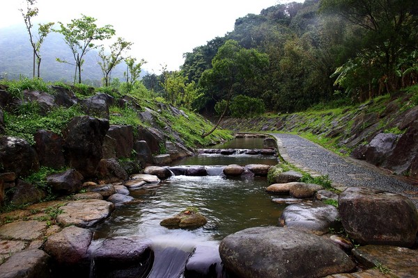
<svg viewBox="0 0 418 278"><path fill-rule="evenodd" d="M47 196L47 193L42 189L34 186L31 183L17 180L13 196L10 199L13 204L20 206L22 204L29 204L31 202L39 202Z"/></svg>

